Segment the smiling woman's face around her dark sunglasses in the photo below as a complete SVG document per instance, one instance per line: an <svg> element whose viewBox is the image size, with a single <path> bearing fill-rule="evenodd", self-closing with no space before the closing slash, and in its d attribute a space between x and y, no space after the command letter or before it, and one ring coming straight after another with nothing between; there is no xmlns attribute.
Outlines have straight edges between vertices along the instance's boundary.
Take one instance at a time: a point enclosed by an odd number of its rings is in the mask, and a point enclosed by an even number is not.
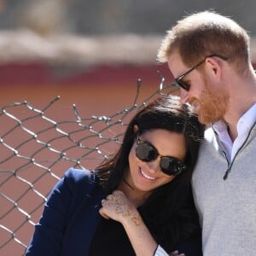
<svg viewBox="0 0 256 256"><path fill-rule="evenodd" d="M150 143L157 149L161 156L173 156L184 160L185 138L182 134L155 129L144 132L140 140ZM160 169L160 155L152 161L145 162L136 156L136 141L133 143L129 154L130 170L126 173L126 181L134 188L143 192L152 192L154 189L169 183L174 176L167 175Z"/></svg>

